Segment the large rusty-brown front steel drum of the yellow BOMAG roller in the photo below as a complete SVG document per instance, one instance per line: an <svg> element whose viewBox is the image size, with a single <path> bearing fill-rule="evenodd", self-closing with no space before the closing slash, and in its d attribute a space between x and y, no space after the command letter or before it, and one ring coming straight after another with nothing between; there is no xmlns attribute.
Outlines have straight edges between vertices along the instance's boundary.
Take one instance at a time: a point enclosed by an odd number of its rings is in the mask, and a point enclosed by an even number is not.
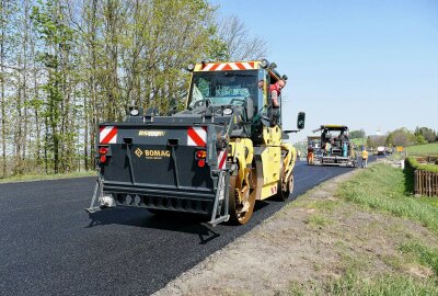
<svg viewBox="0 0 438 296"><path fill-rule="evenodd" d="M251 173L250 173L251 174ZM251 180L251 175L247 180ZM228 212L230 223L234 225L246 224L253 215L255 204L255 191L245 181L242 187L237 186L237 177L230 175L230 193Z"/></svg>

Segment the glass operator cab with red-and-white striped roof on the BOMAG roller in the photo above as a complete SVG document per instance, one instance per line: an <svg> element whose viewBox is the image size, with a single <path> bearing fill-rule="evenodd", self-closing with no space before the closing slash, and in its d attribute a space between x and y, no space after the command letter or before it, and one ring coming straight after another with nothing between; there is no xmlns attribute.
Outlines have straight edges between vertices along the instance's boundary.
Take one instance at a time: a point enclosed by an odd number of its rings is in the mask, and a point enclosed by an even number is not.
<svg viewBox="0 0 438 296"><path fill-rule="evenodd" d="M191 65L191 87L186 109L176 116L212 118L227 124L231 116L242 137L263 141L263 128L281 129L281 95L279 107L273 107L269 87L278 80L287 80L276 70L275 62L260 61L199 62ZM304 127L304 113L300 113L298 129ZM298 130L289 130L298 132Z"/></svg>

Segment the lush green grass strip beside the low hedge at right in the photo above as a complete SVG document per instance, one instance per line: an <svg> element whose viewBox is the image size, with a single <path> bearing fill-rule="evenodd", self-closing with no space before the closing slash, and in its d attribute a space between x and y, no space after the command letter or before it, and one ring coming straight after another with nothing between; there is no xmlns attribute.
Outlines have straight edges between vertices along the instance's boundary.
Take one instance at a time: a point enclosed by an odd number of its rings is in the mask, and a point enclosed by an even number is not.
<svg viewBox="0 0 438 296"><path fill-rule="evenodd" d="M339 185L337 195L365 207L413 219L438 234L438 207L430 198L416 198L405 190L403 171L373 164Z"/></svg>

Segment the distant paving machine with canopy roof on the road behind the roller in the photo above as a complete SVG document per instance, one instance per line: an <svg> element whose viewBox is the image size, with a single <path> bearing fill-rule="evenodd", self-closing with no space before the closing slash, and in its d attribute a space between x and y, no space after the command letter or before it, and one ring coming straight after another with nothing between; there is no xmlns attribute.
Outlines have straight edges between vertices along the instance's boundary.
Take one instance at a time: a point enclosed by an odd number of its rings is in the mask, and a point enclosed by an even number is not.
<svg viewBox="0 0 438 296"><path fill-rule="evenodd" d="M321 132L319 153L314 152L314 161L309 164L357 166L355 145L349 141L348 127L345 125L321 125L312 130ZM313 140L318 143L318 140Z"/></svg>

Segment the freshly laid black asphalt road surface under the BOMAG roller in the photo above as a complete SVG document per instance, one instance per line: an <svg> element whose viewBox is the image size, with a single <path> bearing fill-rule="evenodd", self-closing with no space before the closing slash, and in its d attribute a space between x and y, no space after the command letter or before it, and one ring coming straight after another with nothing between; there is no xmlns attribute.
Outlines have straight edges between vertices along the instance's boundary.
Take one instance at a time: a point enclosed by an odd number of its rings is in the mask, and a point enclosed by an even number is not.
<svg viewBox="0 0 438 296"><path fill-rule="evenodd" d="M292 194L349 171L298 163ZM0 184L0 295L149 295L258 225L284 203L260 202L245 226L89 206L95 178ZM230 266L232 267L232 266Z"/></svg>

